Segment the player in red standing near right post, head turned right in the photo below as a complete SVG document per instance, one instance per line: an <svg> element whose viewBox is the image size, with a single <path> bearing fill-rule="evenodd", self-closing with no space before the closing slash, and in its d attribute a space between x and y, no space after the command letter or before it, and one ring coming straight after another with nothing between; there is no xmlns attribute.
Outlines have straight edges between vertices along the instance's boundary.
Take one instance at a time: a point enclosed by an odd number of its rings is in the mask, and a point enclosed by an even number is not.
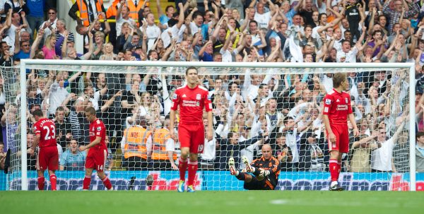
<svg viewBox="0 0 424 214"><path fill-rule="evenodd" d="M341 155L349 152L348 119L353 126L353 134L359 135L351 107L351 95L343 92L349 88L346 73L334 73L333 90L324 97L324 125L329 143L331 174L330 191L341 191L338 175L341 170Z"/></svg>

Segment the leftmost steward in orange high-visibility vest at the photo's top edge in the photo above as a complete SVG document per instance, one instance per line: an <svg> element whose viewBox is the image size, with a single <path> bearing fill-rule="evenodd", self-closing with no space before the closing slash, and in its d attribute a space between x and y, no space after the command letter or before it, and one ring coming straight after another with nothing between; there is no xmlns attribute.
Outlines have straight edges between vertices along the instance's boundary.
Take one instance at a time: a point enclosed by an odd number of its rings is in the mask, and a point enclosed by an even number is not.
<svg viewBox="0 0 424 214"><path fill-rule="evenodd" d="M103 0L94 0L95 5L90 5L90 0L76 0L75 4L72 5L71 9L69 9L68 15L71 18L77 20L78 16L76 16L76 12L79 12L79 19L85 27L90 26L90 23L97 18L100 13L104 13L105 7L103 6ZM90 7L89 7L90 5ZM95 11L94 11L95 10ZM105 18L105 17L99 17Z"/></svg>

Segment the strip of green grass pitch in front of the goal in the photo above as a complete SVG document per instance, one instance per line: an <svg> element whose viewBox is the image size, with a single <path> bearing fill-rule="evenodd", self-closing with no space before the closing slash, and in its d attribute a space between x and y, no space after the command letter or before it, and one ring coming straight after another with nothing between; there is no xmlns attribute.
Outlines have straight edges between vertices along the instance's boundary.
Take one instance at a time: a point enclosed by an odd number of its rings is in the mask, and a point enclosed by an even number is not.
<svg viewBox="0 0 424 214"><path fill-rule="evenodd" d="M1 191L1 213L423 213L423 192Z"/></svg>

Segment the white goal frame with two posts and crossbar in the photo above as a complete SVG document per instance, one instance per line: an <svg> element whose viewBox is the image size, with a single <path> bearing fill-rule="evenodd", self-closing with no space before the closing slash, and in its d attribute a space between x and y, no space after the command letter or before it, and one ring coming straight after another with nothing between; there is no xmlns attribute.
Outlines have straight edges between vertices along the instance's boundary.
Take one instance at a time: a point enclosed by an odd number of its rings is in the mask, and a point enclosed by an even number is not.
<svg viewBox="0 0 424 214"><path fill-rule="evenodd" d="M304 69L309 69L308 73L336 73L336 72L358 72L358 71L393 71L396 69L408 69L408 105L409 115L408 119L408 135L409 135L409 190L416 191L416 112L415 107L415 64L413 63L218 63L218 62L177 62L177 61L76 61L76 60L33 60L23 59L20 61L20 136L27 135L27 129L24 129L27 124L27 69L47 69L56 71L90 71L95 70L95 66L101 68L104 73L121 73L126 72L128 67L131 68L131 73L148 73L150 67L203 67L203 68L216 68L211 73L213 75L219 74L245 74L245 68L250 68L252 71L261 72L266 74L266 71L261 69L274 69L273 73L288 74L302 72ZM219 69L223 69L218 71ZM260 71L259 71L260 70ZM100 70L98 70L100 71ZM160 71L160 69L159 69ZM158 71L158 72L159 72ZM166 74L184 74L184 69L167 71ZM251 74L253 74L252 72ZM201 73L199 73L201 74ZM396 88L391 88L396 90ZM20 150L27 150L27 139L20 138ZM27 153L20 153L20 168L21 168L21 189L28 190L28 177L27 177Z"/></svg>

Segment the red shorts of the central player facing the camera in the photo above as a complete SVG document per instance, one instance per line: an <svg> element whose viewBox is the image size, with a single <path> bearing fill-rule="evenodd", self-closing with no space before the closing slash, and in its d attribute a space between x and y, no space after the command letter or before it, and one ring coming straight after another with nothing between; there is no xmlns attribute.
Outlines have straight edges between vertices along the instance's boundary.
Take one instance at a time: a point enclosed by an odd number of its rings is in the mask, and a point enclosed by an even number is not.
<svg viewBox="0 0 424 214"><path fill-rule="evenodd" d="M203 153L205 128L203 124L179 124L178 140L180 147L189 147L190 153Z"/></svg>

